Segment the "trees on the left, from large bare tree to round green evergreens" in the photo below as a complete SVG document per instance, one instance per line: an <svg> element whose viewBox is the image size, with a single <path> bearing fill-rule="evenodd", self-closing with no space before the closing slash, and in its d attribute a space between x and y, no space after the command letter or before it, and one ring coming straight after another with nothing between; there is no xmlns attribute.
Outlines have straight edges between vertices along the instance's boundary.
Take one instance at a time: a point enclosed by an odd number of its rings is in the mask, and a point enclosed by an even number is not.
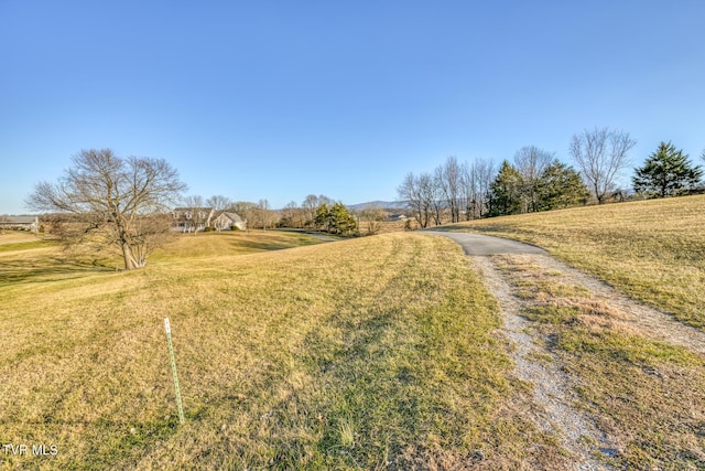
<svg viewBox="0 0 705 471"><path fill-rule="evenodd" d="M171 239L171 213L177 205L230 211L257 228L284 223L340 235L357 233L357 220L343 203L324 195L308 195L301 207L291 203L280 213L267 200L183 196L186 190L176 169L163 159L121 158L110 149L88 149L73 157L56 182L37 183L25 205L53 215L52 234L67 247L82 246L94 253L115 249L128 270L147 265L149 255ZM206 212L191 214L205 217Z"/></svg>

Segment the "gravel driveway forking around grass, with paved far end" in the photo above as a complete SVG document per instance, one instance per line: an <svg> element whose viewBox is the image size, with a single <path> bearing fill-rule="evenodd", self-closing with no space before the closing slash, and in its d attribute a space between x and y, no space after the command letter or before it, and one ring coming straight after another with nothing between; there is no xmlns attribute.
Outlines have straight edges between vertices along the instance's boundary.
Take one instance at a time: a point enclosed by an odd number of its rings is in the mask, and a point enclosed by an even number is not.
<svg viewBox="0 0 705 471"><path fill-rule="evenodd" d="M632 332L705 354L705 332L616 292L609 285L555 260L540 247L480 234L423 233L458 243L485 279L503 317L501 331L514 344L510 352L516 365L513 374L533 384L533 421L540 429L560 437L571 456L572 469L612 469L608 461L619 452L619 438L600 430L596 417L575 407L575 387L581 379L565 371L565 365L546 349L549 339L522 315L533 306L533 301L521 296L527 283L536 282L541 272L557 275L556 282L584 288L585 302L606 307L620 325ZM511 267L509 271L507 266Z"/></svg>

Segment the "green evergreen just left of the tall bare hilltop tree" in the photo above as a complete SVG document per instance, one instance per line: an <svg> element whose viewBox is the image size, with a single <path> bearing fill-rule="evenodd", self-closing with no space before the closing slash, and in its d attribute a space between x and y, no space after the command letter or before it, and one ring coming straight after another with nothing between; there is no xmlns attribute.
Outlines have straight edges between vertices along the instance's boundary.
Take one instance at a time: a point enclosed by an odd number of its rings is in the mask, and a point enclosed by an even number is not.
<svg viewBox="0 0 705 471"><path fill-rule="evenodd" d="M581 174L554 160L535 181L538 210L550 211L587 203L590 192Z"/></svg>

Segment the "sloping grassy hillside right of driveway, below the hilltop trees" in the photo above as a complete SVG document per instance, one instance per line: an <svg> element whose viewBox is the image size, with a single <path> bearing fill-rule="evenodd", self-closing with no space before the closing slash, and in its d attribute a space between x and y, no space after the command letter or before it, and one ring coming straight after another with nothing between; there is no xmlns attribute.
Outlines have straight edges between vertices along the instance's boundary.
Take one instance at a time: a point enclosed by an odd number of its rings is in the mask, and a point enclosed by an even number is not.
<svg viewBox="0 0 705 471"><path fill-rule="evenodd" d="M530 242L705 329L705 195L497 217L453 226Z"/></svg>

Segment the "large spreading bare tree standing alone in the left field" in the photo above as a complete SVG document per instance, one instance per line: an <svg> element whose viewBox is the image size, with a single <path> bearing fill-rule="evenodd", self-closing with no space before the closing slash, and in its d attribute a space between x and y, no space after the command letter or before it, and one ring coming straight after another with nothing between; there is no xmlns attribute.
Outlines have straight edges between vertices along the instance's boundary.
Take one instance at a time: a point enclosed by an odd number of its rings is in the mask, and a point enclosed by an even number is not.
<svg viewBox="0 0 705 471"><path fill-rule="evenodd" d="M83 150L72 162L57 183L36 184L28 207L65 214L67 244L115 247L124 269L144 266L169 233L170 205L186 190L176 170L162 159L121 159L110 149Z"/></svg>

